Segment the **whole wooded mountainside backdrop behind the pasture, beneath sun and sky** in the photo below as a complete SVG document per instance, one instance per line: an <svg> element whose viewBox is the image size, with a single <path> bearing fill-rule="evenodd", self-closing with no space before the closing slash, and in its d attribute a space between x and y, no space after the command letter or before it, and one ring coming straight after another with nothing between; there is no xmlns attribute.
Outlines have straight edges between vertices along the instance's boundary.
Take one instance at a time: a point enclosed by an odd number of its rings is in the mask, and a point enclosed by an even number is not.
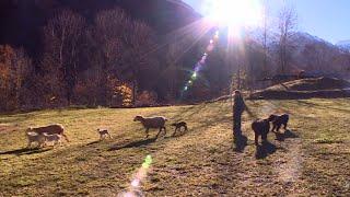
<svg viewBox="0 0 350 197"><path fill-rule="evenodd" d="M215 26L179 0L2 0L0 111L198 102L302 71L349 78L349 51L295 32L291 11L279 20L236 43L222 30L208 47Z"/></svg>

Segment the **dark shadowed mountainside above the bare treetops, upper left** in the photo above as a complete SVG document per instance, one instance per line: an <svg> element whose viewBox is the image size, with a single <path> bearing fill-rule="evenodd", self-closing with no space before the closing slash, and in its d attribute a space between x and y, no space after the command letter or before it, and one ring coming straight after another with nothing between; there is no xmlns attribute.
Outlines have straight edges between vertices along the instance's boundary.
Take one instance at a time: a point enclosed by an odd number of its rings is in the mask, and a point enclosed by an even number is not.
<svg viewBox="0 0 350 197"><path fill-rule="evenodd" d="M200 18L180 0L1 0L0 45L24 46L33 54L39 50L42 27L58 10L73 10L92 22L98 11L116 7L147 22L160 35Z"/></svg>

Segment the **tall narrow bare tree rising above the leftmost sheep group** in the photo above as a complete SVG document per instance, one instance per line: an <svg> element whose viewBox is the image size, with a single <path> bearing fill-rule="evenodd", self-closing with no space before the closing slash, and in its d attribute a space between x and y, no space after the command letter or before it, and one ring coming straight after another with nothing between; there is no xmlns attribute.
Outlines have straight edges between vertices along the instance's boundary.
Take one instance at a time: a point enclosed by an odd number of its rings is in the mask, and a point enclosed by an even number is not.
<svg viewBox="0 0 350 197"><path fill-rule="evenodd" d="M70 103L78 79L84 19L70 10L56 14L44 27L44 58L52 96L65 96ZM63 83L60 85L60 83Z"/></svg>

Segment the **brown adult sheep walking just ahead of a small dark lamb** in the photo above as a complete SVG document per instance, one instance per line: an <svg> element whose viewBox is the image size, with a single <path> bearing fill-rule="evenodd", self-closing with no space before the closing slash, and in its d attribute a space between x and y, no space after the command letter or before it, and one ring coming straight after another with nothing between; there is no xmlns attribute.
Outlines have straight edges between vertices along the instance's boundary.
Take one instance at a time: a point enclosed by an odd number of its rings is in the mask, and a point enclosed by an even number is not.
<svg viewBox="0 0 350 197"><path fill-rule="evenodd" d="M145 138L149 138L150 128L160 128L160 131L158 132L156 137L160 135L162 129L164 129L164 132L166 135L165 121L167 121L167 119L165 117L143 117L139 115L133 118L133 121L140 121L143 125L147 134Z"/></svg>

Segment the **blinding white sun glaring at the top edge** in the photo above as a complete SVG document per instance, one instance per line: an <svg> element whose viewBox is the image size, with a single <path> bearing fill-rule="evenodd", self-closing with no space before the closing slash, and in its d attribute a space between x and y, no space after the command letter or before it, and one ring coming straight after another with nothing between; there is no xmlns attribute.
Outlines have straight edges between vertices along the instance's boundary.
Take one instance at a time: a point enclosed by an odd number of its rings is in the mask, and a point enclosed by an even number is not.
<svg viewBox="0 0 350 197"><path fill-rule="evenodd" d="M260 0L206 0L207 19L221 26L256 26L262 18Z"/></svg>

